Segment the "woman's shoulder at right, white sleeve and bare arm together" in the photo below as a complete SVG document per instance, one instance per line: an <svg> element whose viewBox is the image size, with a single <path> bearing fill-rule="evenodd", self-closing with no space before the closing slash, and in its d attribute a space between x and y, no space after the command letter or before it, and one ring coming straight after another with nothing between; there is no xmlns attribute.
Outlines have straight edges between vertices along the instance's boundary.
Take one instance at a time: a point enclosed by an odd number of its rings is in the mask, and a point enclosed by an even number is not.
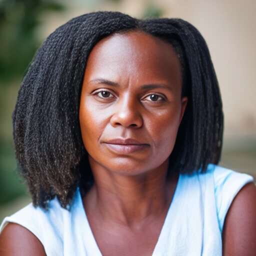
<svg viewBox="0 0 256 256"><path fill-rule="evenodd" d="M256 187L252 176L210 165L223 255L256 255Z"/></svg>

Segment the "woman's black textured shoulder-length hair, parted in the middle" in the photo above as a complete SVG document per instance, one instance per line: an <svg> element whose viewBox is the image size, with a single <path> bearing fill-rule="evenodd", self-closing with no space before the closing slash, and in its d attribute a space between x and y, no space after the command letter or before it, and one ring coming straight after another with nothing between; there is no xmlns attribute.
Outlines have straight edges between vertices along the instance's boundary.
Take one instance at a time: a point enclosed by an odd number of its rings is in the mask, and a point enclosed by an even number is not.
<svg viewBox="0 0 256 256"><path fill-rule="evenodd" d="M86 60L103 37L144 31L172 44L182 67L188 104L170 155L169 173L204 171L217 163L223 114L206 43L182 19L140 20L120 12L75 17L51 33L38 49L21 83L12 115L15 153L35 206L57 196L68 207L74 191L93 183L79 126L79 100Z"/></svg>

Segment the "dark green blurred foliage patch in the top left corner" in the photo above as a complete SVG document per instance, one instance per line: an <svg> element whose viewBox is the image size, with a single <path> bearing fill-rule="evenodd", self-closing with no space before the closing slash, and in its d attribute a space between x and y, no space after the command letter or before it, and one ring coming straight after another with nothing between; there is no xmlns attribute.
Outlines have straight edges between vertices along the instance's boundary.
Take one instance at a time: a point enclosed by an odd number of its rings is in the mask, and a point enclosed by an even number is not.
<svg viewBox="0 0 256 256"><path fill-rule="evenodd" d="M40 15L62 9L62 5L50 0L0 1L0 81L23 74L40 44L35 35Z"/></svg>

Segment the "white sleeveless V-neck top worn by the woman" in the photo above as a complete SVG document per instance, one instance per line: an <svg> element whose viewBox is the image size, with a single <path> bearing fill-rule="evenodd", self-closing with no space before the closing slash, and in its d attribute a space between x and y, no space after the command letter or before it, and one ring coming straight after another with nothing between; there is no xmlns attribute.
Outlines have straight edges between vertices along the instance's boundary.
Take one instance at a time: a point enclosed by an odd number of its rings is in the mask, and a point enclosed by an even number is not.
<svg viewBox="0 0 256 256"><path fill-rule="evenodd" d="M234 196L252 181L247 174L209 164L206 173L180 174L176 190L152 256L204 255L222 253L221 231ZM28 204L4 218L30 230L43 244L48 256L101 256L90 229L77 189L70 210L58 200L48 211Z"/></svg>

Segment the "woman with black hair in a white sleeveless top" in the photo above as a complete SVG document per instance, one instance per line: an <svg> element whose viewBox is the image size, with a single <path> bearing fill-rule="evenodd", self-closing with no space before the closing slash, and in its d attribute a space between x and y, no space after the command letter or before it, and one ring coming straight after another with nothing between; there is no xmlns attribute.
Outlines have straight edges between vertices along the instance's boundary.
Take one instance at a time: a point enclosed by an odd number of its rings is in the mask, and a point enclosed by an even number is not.
<svg viewBox="0 0 256 256"><path fill-rule="evenodd" d="M255 187L215 165L222 127L192 25L70 20L18 94L15 152L33 205L4 219L0 255L254 255Z"/></svg>

